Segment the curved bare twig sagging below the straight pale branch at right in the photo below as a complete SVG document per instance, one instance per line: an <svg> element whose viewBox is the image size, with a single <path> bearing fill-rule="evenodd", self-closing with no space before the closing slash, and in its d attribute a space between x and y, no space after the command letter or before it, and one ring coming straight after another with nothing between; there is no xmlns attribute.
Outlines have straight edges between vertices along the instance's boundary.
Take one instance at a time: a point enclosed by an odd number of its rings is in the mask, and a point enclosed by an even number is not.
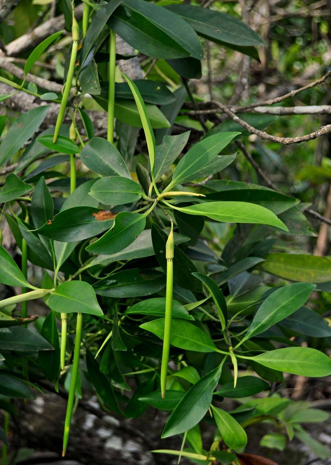
<svg viewBox="0 0 331 465"><path fill-rule="evenodd" d="M265 133L264 131L260 131L259 129L256 129L253 126L250 126L250 124L246 123L246 121L241 120L235 113L233 113L229 108L223 105L223 103L219 103L219 102L216 102L216 103L221 108L221 110L223 110L224 113L228 114L230 118L232 118L232 120L234 120L236 123L240 124L240 126L247 129L250 133L256 134L261 139L272 140L272 142L278 142L279 144L284 144L284 145L300 144L301 142L306 142L307 140L313 140L313 139L316 139L317 137L323 136L331 132L331 124L328 124L326 126L322 126L315 133L307 134L302 137L271 136L270 134Z"/></svg>

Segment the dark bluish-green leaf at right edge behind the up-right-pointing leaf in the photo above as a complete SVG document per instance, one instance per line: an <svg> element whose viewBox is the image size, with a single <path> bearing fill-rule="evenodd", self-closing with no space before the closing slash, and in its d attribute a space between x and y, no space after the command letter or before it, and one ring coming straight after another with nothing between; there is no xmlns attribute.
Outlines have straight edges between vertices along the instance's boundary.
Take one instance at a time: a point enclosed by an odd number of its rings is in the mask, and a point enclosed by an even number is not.
<svg viewBox="0 0 331 465"><path fill-rule="evenodd" d="M330 338L331 327L317 312L308 307L301 307L285 318L281 325L285 328L311 336L313 338Z"/></svg>

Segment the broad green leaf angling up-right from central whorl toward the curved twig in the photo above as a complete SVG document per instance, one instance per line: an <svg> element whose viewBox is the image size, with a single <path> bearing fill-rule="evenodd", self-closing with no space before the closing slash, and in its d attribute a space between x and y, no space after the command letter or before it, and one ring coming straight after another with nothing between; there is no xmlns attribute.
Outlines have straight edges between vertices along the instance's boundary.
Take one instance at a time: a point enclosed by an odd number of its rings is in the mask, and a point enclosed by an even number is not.
<svg viewBox="0 0 331 465"><path fill-rule="evenodd" d="M179 161L170 186L196 179L202 170L238 133L221 133L201 140ZM170 188L170 187L169 187Z"/></svg>

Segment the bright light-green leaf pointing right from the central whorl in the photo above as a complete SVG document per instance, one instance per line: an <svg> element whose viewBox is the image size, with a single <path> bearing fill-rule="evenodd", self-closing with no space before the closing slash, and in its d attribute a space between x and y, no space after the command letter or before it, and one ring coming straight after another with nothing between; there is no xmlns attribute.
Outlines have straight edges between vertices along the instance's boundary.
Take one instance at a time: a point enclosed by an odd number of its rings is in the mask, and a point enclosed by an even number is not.
<svg viewBox="0 0 331 465"><path fill-rule="evenodd" d="M248 202L208 202L176 208L183 213L203 215L225 223L264 224L287 231L287 227L275 213L263 206Z"/></svg>

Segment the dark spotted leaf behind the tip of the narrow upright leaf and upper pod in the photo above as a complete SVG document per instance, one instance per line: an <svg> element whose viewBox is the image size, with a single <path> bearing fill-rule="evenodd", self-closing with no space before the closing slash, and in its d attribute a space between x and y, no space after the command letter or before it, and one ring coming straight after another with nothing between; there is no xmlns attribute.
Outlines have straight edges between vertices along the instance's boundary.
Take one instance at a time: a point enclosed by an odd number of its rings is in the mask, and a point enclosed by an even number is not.
<svg viewBox="0 0 331 465"><path fill-rule="evenodd" d="M176 97L168 89L168 87L160 82L147 79L137 79L134 82L142 96L142 100L145 103L168 105L176 100ZM108 98L108 85L103 86L103 89L102 93L106 93L107 91ZM126 82L115 83L115 99L133 100L132 92Z"/></svg>

